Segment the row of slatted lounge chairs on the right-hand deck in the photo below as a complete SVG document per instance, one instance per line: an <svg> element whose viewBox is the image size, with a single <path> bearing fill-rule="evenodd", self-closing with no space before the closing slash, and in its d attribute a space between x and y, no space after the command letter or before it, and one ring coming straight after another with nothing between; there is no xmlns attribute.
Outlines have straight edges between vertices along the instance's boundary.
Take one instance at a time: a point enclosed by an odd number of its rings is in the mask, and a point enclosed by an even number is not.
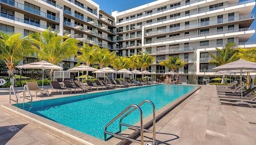
<svg viewBox="0 0 256 145"><path fill-rule="evenodd" d="M256 106L256 94L252 94L256 90L256 87L242 92L241 88L244 88L244 83L240 85L236 81L230 83L228 86L217 86L219 104L245 104L252 108Z"/></svg>

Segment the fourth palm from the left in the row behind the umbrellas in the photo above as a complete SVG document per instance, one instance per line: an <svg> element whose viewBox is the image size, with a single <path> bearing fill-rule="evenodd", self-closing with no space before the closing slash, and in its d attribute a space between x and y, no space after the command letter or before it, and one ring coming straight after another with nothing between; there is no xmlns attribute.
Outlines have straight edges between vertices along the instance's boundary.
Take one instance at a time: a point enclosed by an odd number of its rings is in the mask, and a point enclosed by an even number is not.
<svg viewBox="0 0 256 145"><path fill-rule="evenodd" d="M96 63L99 64L99 68L107 67L112 60L116 57L116 52L110 52L106 48L100 48L96 46Z"/></svg>

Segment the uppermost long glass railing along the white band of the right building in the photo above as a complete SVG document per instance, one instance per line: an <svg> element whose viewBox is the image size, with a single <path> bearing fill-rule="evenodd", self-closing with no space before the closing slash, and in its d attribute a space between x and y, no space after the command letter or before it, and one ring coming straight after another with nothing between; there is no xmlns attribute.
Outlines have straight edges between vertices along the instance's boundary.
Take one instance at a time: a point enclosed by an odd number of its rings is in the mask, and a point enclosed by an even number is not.
<svg viewBox="0 0 256 145"><path fill-rule="evenodd" d="M244 2L236 3L236 4L230 4L230 5L226 5L226 6L210 8L210 9L202 10L202 11L199 11L199 12L194 12L194 13L190 13L190 14L184 14L184 15L180 15L180 16L176 16L176 17L172 17L172 18L166 18L164 20L158 20L158 21L156 20L156 21L152 21L150 23L147 23L145 25L155 24L155 23L158 23L158 22L163 22L163 21L167 21L167 20L173 20L173 19L182 18L182 17L186 17L186 16L189 16L189 18L190 18L192 15L196 15L196 14L200 14L200 13L206 13L206 12L210 12L210 11L213 11L213 10L219 10L219 9L223 9L223 8L225 10L225 8L229 8L229 7L232 7L232 6L238 6L238 5L244 5L245 6L245 4L250 3L250 2L254 2L254 0L247 0L247 1L244 1ZM234 17L232 17L232 18L234 18Z"/></svg>

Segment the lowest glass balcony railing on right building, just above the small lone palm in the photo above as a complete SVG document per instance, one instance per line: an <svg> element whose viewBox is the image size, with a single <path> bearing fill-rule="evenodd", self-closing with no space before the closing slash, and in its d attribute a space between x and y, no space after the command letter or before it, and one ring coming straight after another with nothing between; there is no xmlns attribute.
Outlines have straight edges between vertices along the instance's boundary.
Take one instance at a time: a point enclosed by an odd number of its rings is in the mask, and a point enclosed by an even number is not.
<svg viewBox="0 0 256 145"><path fill-rule="evenodd" d="M166 53L181 53L181 52L193 52L194 47L187 48L175 48L169 50L147 51L149 55L166 54Z"/></svg>

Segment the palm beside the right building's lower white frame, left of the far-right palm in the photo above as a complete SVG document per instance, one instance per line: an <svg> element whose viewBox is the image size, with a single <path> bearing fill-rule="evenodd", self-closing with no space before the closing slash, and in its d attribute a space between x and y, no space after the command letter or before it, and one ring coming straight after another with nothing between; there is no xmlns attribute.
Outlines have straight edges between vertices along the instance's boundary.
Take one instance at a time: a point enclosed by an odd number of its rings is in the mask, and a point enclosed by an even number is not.
<svg viewBox="0 0 256 145"><path fill-rule="evenodd" d="M220 65L224 65L226 63L231 63L232 61L238 60L238 50L236 48L237 46L234 42L226 43L223 49L216 48L218 56L209 53L210 57L212 58L209 63L214 64L218 67Z"/></svg>

